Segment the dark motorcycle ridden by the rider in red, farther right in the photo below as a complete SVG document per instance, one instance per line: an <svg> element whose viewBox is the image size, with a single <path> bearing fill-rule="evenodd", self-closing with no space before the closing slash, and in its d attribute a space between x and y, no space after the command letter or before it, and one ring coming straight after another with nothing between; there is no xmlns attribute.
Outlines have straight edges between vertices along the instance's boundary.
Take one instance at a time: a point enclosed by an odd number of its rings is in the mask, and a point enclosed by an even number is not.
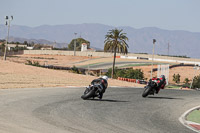
<svg viewBox="0 0 200 133"><path fill-rule="evenodd" d="M154 95L156 92L157 83L152 81L151 79L147 83L147 86L145 86L145 90L142 94L143 97L147 97L148 95Z"/></svg>

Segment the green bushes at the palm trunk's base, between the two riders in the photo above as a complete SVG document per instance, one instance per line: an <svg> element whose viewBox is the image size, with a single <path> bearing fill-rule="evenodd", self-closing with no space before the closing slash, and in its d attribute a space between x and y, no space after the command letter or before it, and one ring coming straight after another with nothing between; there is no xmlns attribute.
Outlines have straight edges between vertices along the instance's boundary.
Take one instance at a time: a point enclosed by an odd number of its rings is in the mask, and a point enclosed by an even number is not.
<svg viewBox="0 0 200 133"><path fill-rule="evenodd" d="M106 75L108 77L111 77L112 74L112 68L108 69L108 72ZM141 71L141 69L118 69L115 68L115 74L113 78L130 78L130 79L144 79L144 73Z"/></svg>

